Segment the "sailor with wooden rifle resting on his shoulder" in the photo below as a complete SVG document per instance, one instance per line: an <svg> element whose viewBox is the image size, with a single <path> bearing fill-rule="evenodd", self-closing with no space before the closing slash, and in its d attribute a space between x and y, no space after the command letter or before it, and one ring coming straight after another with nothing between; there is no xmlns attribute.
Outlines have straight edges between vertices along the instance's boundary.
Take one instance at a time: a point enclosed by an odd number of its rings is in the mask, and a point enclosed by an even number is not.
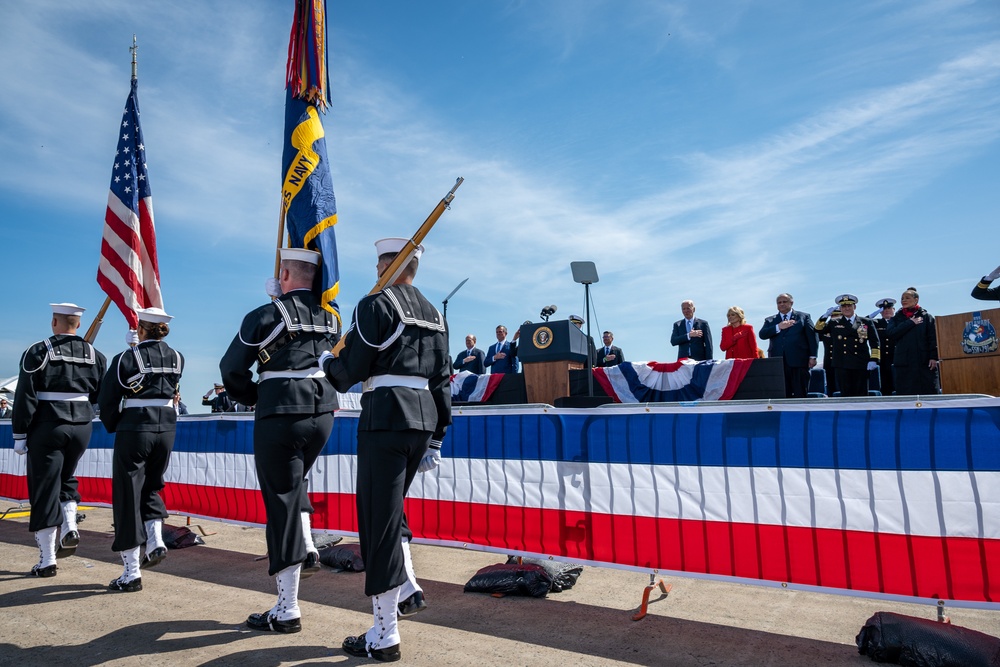
<svg viewBox="0 0 1000 667"><path fill-rule="evenodd" d="M375 243L381 275L407 239ZM361 300L337 357L320 365L346 391L365 380L358 423L358 534L365 562L365 594L374 624L350 636L350 655L385 662L400 659L397 615L426 607L410 558L413 533L403 498L417 472L441 462L441 441L451 424L451 358L444 318L413 286L423 246L395 284Z"/></svg>

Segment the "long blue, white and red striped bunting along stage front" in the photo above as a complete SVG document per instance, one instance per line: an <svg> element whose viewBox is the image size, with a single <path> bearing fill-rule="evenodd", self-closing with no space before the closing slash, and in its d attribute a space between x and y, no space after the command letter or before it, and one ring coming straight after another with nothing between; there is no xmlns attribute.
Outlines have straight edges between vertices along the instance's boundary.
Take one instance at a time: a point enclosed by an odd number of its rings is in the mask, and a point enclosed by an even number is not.
<svg viewBox="0 0 1000 667"><path fill-rule="evenodd" d="M309 478L313 526L356 534L357 413ZM77 470L111 502L99 422ZM0 497L24 457L0 424ZM1000 399L463 407L417 475L423 542L743 583L1000 609ZM263 524L252 416L182 417L174 514Z"/></svg>

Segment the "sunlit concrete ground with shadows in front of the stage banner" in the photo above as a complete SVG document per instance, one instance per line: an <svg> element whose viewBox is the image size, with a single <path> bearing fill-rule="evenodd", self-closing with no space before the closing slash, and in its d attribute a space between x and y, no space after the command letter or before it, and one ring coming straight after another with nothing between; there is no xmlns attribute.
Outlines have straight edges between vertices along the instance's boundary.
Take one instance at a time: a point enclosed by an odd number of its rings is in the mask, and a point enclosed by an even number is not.
<svg viewBox="0 0 1000 667"><path fill-rule="evenodd" d="M0 513L11 507L0 501ZM107 584L122 566L111 551L111 511L83 511L80 548L51 579L25 575L38 560L27 518L0 520L0 665L374 662L340 650L371 622L362 574L324 569L304 581L301 633L254 632L243 621L275 600L258 560L262 529L198 521L214 533L205 546L171 551L144 572L143 591L112 593ZM546 599L493 598L462 587L501 556L414 545L413 557L429 608L400 623L401 665L863 665L871 663L854 638L874 612L936 615L927 605L672 578L670 595L636 622L646 574L587 567L574 588ZM1000 635L1000 612L948 613Z"/></svg>

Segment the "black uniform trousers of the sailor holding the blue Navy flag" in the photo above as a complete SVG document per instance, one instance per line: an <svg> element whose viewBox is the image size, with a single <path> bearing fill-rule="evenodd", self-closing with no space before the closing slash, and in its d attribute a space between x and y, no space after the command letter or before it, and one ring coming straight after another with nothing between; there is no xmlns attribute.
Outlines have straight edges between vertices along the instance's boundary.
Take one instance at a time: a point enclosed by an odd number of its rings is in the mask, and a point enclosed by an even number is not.
<svg viewBox="0 0 1000 667"><path fill-rule="evenodd" d="M306 559L302 512L312 512L306 475L333 431L333 413L276 414L253 427L253 456L267 512L268 574Z"/></svg>

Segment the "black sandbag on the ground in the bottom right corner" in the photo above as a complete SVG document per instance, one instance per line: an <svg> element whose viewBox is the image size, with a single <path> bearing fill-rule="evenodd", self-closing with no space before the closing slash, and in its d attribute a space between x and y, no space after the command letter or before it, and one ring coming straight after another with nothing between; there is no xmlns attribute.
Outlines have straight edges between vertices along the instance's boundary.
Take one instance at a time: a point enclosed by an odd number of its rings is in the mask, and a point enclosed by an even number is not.
<svg viewBox="0 0 1000 667"><path fill-rule="evenodd" d="M1000 667L1000 639L926 618L876 612L855 641L875 662L912 667Z"/></svg>

